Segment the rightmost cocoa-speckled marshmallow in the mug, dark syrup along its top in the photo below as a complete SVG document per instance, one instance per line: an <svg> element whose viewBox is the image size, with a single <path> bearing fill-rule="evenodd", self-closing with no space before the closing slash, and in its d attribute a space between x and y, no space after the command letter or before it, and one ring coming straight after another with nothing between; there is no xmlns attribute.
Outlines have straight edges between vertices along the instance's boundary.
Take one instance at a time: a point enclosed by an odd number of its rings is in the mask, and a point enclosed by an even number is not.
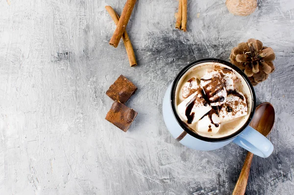
<svg viewBox="0 0 294 195"><path fill-rule="evenodd" d="M227 101L221 107L221 122L245 116L248 112L245 96L241 92L228 91Z"/></svg>

